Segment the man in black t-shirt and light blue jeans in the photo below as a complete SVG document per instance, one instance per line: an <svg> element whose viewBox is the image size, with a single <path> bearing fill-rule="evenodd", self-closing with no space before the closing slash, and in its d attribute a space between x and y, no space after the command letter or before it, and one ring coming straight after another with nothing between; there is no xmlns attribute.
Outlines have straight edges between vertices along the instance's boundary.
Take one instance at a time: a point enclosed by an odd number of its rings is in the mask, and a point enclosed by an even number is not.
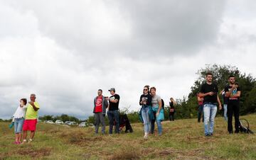
<svg viewBox="0 0 256 160"><path fill-rule="evenodd" d="M217 113L217 103L221 110L218 97L218 86L212 83L213 74L206 74L206 83L201 86L199 96L203 98L203 125L206 136L213 135L214 118ZM210 124L208 124L210 122Z"/></svg>

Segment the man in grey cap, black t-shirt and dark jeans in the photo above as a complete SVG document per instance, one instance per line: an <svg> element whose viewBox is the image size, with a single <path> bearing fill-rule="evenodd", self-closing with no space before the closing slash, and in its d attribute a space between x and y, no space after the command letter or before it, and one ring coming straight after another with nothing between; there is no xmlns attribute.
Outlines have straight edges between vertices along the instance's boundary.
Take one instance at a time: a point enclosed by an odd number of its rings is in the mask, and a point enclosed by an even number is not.
<svg viewBox="0 0 256 160"><path fill-rule="evenodd" d="M116 122L115 125L115 132L119 133L119 113L118 113L118 105L119 105L119 100L120 96L115 93L114 88L110 88L110 98L108 100L110 101L109 106L108 106L108 111L107 111L107 117L110 120L110 135L112 135L112 130L113 130L113 124L114 120Z"/></svg>

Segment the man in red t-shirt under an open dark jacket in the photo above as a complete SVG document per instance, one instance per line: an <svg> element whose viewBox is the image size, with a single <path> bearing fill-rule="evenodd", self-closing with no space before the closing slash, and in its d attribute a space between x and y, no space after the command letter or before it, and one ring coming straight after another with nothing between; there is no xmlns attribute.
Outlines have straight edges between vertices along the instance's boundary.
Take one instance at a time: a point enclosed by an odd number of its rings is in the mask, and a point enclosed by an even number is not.
<svg viewBox="0 0 256 160"><path fill-rule="evenodd" d="M95 113L95 134L98 133L100 123L102 123L102 134L105 134L105 115L107 108L107 99L102 95L102 90L99 89L97 91L98 96L94 99L94 109L93 113Z"/></svg>

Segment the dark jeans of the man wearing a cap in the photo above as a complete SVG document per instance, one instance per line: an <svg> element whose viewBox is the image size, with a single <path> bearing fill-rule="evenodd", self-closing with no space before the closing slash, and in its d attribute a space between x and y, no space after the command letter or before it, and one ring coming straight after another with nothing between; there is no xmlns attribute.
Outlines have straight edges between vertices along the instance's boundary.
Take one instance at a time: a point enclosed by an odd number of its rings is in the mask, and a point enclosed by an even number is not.
<svg viewBox="0 0 256 160"><path fill-rule="evenodd" d="M113 132L113 125L114 125L114 120L116 122L115 124L115 133L119 133L119 113L118 110L109 110L107 111L107 117L110 120L110 134Z"/></svg>

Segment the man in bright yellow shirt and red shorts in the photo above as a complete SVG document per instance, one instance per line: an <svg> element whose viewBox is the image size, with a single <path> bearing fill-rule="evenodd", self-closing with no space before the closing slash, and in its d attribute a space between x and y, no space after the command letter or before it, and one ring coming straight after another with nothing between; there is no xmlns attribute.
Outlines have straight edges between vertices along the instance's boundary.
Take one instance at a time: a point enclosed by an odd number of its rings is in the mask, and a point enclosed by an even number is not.
<svg viewBox="0 0 256 160"><path fill-rule="evenodd" d="M27 131L31 131L29 142L32 142L33 137L35 136L36 132L36 123L38 117L38 110L40 108L39 104L36 102L36 94L31 94L30 96L31 101L28 103L25 121L23 124L23 142L22 144L27 142Z"/></svg>

